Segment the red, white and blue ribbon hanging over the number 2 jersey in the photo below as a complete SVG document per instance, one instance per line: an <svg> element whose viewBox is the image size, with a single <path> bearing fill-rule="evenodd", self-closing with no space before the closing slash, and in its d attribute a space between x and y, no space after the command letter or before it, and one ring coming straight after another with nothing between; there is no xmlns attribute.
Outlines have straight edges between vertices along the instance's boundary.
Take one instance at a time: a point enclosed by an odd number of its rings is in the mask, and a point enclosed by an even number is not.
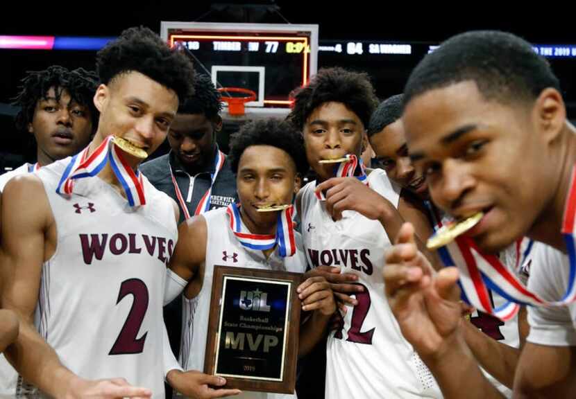
<svg viewBox="0 0 576 399"><path fill-rule="evenodd" d="M126 194L128 204L130 206L146 204L142 173L138 170L135 172L130 167L124 159L122 150L114 145L113 140L111 135L106 137L90 157L87 157L88 148L85 148L80 154L74 155L60 178L56 193L71 195L74 189L74 180L96 176L106 166L106 163L110 162L110 167Z"/></svg>

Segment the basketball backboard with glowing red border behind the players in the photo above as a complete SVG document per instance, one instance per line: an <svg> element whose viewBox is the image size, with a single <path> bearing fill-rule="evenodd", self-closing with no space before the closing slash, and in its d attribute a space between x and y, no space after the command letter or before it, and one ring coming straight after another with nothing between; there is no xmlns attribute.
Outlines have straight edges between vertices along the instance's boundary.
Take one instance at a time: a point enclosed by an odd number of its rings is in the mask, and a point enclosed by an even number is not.
<svg viewBox="0 0 576 399"><path fill-rule="evenodd" d="M248 113L287 113L290 92L318 68L317 25L164 21L160 35L183 48L217 87L255 91Z"/></svg>

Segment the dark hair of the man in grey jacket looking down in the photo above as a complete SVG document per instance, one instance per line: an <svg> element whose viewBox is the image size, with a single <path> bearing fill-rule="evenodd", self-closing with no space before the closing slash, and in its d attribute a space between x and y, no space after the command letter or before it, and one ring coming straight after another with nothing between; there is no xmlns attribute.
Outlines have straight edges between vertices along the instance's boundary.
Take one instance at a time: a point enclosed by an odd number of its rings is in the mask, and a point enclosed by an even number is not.
<svg viewBox="0 0 576 399"><path fill-rule="evenodd" d="M220 92L209 76L200 74L194 82L194 95L180 103L178 114L204 114L207 119L214 119L221 110Z"/></svg>

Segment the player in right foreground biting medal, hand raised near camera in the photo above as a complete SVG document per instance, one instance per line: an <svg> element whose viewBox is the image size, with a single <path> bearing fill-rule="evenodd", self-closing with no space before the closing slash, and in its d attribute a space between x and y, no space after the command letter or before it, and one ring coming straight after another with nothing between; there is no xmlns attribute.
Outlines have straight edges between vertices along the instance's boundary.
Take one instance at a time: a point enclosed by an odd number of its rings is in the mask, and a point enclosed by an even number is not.
<svg viewBox="0 0 576 399"><path fill-rule="evenodd" d="M482 250L495 253L522 236L545 244L535 249L528 288L548 301L559 300L570 283L573 242L568 194L574 190L576 130L559 90L531 44L509 33L470 32L448 39L418 64L405 88L403 113L410 157L424 172L434 203L457 218L484 212L467 233ZM432 273L407 225L387 255L384 274L403 335L445 397L501 397L464 340L457 270ZM516 368L515 397L573 396L574 314L573 304L528 308L530 334Z"/></svg>

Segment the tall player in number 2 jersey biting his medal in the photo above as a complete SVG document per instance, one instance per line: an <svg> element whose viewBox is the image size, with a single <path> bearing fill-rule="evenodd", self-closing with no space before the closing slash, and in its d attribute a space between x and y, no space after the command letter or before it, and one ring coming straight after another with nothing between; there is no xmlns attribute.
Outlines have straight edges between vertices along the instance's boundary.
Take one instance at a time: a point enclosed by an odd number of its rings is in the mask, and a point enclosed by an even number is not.
<svg viewBox="0 0 576 399"><path fill-rule="evenodd" d="M162 398L162 299L178 211L135 170L165 139L194 71L148 28L105 46L97 69L90 145L3 191L3 306L20 320L6 353L26 381L19 393L35 390L30 383L57 398Z"/></svg>

